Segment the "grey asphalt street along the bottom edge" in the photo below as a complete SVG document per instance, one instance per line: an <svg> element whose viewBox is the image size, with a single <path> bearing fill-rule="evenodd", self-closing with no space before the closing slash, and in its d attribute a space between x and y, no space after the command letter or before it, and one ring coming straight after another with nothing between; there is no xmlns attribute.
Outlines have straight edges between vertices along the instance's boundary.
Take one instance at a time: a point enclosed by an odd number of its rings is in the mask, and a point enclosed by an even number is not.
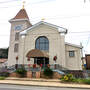
<svg viewBox="0 0 90 90"><path fill-rule="evenodd" d="M0 90L89 90L77 88L54 88L54 87L37 87L37 86L20 86L0 84Z"/></svg>

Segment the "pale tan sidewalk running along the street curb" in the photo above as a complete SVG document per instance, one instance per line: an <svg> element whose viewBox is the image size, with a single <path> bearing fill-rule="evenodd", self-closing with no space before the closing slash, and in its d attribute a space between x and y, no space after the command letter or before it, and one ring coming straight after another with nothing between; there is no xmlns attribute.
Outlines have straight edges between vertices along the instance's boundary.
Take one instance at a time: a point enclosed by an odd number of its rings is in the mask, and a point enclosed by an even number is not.
<svg viewBox="0 0 90 90"><path fill-rule="evenodd" d="M90 89L90 85L60 83L58 79L7 78L6 80L0 80L0 84Z"/></svg>

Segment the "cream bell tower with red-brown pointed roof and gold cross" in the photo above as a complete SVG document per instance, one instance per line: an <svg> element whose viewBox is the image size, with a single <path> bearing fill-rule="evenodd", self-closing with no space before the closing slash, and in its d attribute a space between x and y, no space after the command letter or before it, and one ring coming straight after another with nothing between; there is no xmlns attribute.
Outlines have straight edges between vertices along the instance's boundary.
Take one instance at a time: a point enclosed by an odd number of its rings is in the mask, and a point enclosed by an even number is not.
<svg viewBox="0 0 90 90"><path fill-rule="evenodd" d="M12 66L16 64L16 57L19 53L19 32L32 26L29 21L27 12L23 8L16 14L16 16L9 20L11 23L10 42L9 42L9 54L8 65Z"/></svg>

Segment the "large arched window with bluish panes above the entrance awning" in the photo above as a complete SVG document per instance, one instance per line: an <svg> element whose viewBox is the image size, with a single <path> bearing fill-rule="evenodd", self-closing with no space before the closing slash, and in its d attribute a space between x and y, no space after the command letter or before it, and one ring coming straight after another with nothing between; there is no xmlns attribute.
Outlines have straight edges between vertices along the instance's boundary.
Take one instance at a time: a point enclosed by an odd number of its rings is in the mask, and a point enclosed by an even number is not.
<svg viewBox="0 0 90 90"><path fill-rule="evenodd" d="M45 36L36 39L35 48L39 50L49 51L49 40Z"/></svg>

